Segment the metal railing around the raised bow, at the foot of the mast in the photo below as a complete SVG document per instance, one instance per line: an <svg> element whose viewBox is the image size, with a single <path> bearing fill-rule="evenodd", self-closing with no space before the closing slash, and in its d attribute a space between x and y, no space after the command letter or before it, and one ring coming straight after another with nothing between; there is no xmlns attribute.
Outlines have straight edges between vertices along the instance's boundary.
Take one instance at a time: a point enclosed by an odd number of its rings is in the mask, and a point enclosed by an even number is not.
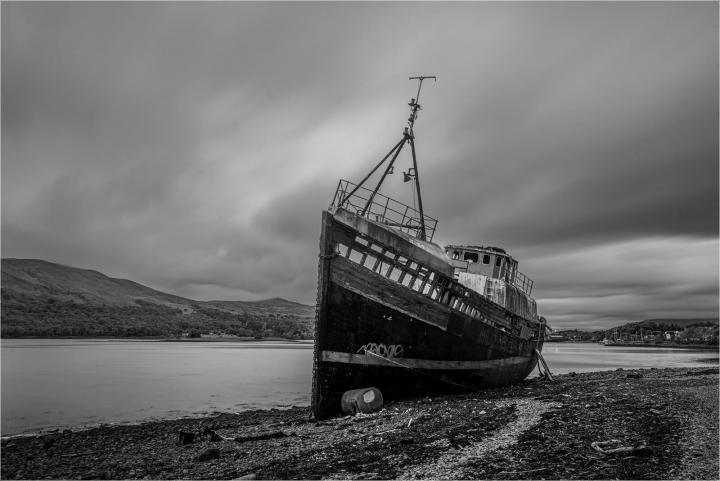
<svg viewBox="0 0 720 481"><path fill-rule="evenodd" d="M340 179L330 207L343 207L406 234L421 237L422 224L419 211L380 192L376 192L374 196L372 193L373 191L370 189L358 187L350 181ZM368 206L368 199L371 197L372 202ZM423 219L425 220L425 240L431 241L435 235L437 220L428 215L423 215Z"/></svg>

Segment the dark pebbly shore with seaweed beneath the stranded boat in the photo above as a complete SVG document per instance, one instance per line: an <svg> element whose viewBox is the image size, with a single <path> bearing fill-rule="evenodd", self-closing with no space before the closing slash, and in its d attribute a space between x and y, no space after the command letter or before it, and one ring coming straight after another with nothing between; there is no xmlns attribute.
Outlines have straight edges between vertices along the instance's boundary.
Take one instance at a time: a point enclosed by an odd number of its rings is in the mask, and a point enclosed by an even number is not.
<svg viewBox="0 0 720 481"><path fill-rule="evenodd" d="M717 479L717 392L717 367L571 373L321 422L295 406L3 438L2 471L4 479ZM181 432L192 442L179 444ZM593 447L611 439L630 452Z"/></svg>

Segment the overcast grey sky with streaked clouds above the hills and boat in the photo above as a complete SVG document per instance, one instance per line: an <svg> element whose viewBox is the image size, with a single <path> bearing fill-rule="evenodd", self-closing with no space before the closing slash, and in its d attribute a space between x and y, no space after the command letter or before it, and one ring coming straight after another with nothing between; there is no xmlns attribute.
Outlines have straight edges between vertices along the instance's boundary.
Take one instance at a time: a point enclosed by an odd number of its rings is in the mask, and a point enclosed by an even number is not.
<svg viewBox="0 0 720 481"><path fill-rule="evenodd" d="M3 258L314 304L321 212L401 139L438 244L555 329L718 314L717 2L2 2ZM386 193L410 203L400 169Z"/></svg>

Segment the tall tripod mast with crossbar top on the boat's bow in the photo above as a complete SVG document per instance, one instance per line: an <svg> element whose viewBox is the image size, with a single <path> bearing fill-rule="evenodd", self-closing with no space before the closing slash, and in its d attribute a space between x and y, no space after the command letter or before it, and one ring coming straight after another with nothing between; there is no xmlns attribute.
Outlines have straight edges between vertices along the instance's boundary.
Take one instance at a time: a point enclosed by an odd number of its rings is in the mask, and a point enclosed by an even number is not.
<svg viewBox="0 0 720 481"><path fill-rule="evenodd" d="M365 215L372 205L373 199L375 198L375 194L377 194L378 190L380 190L380 187L382 186L383 182L385 181L385 177L387 177L388 174L392 173L393 171L393 165L395 164L395 159L397 159L398 155L400 155L400 151L405 146L405 144L410 144L410 151L412 153L413 158L413 166L412 169L409 169L407 172L403 172L403 175L405 176L405 181L408 182L410 179L415 180L415 189L417 191L417 201L418 201L418 211L420 214L420 232L419 237L422 240L426 240L427 234L425 232L425 214L423 212L422 207L422 196L420 195L420 175L418 174L418 168L417 168L417 155L415 153L415 132L413 131L413 127L415 126L415 120L417 120L418 117L418 111L422 110L422 107L420 107L420 89L422 88L423 80L426 78L431 78L437 82L437 77L434 75L421 75L417 77L410 77L410 80L417 80L418 81L418 92L417 95L415 95L415 98L410 99L410 103L408 104L410 106L410 117L408 117L408 126L405 127L405 130L403 131L403 137L400 139L400 141L395 144L395 146L388 152L385 157L378 162L378 164L370 171L368 175L365 176L363 180L360 181L358 185L355 186L355 188L350 191L341 201L340 205L342 205L345 200L349 199L362 185L367 182L367 180L370 178L371 175L375 173L376 170L380 168L382 164L385 163L385 161L392 156L390 163L385 168L385 171L383 172L382 176L380 176L380 180L378 181L377 185L372 191L372 194L370 194L370 197L368 198L367 202L365 203L365 207L363 208L360 215Z"/></svg>

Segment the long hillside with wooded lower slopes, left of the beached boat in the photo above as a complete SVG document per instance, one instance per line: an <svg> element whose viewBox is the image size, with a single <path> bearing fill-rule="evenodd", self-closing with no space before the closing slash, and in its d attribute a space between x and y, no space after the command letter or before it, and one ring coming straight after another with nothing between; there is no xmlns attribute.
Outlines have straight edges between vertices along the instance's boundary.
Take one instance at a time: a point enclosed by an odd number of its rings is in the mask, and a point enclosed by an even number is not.
<svg viewBox="0 0 720 481"><path fill-rule="evenodd" d="M285 299L196 301L94 270L2 259L2 337L310 339L315 309Z"/></svg>

